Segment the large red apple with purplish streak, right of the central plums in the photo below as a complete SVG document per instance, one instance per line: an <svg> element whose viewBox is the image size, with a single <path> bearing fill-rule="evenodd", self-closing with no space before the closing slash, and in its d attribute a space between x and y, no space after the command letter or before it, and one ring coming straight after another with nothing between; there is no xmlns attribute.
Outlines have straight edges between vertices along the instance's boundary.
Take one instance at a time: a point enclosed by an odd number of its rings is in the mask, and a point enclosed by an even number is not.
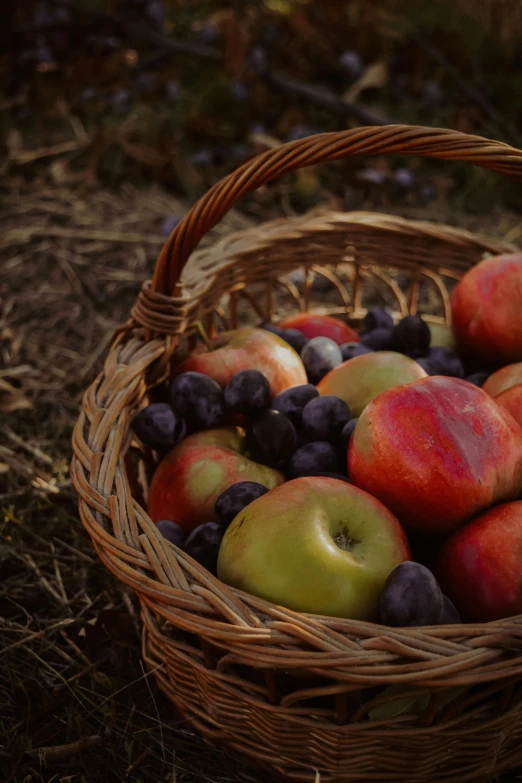
<svg viewBox="0 0 522 783"><path fill-rule="evenodd" d="M408 529L449 533L522 490L522 429L467 381L432 376L363 411L348 475Z"/></svg>

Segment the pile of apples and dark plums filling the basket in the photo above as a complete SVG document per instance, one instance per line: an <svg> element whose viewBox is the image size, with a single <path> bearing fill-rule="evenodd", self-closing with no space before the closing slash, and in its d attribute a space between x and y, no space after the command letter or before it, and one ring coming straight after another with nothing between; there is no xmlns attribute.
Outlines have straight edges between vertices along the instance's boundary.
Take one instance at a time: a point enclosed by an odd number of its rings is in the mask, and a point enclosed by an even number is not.
<svg viewBox="0 0 522 783"><path fill-rule="evenodd" d="M456 286L452 327L301 313L172 366L133 429L148 512L223 582L422 626L522 613L522 254Z"/></svg>

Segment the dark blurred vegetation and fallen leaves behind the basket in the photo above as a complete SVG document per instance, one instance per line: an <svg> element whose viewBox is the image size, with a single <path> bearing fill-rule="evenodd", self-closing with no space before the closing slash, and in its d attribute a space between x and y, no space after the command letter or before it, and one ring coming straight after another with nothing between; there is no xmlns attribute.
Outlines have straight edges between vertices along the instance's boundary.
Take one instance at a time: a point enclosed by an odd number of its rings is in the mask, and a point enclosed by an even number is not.
<svg viewBox="0 0 522 783"><path fill-rule="evenodd" d="M24 178L43 165L58 182L152 181L192 201L320 131L415 123L520 146L518 0L25 0L3 13L4 172ZM287 211L520 205L498 176L401 158L309 169L286 197Z"/></svg>

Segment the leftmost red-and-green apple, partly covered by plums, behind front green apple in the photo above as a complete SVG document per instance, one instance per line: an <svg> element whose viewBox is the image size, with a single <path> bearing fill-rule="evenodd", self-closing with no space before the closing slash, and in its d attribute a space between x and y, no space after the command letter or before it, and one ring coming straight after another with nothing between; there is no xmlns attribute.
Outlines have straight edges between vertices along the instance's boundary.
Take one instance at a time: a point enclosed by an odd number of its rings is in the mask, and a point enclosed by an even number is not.
<svg viewBox="0 0 522 783"><path fill-rule="evenodd" d="M268 489L284 480L279 471L244 455L236 427L198 432L172 449L152 477L148 510L153 522L175 519L190 531L215 519L216 500L231 484L255 481Z"/></svg>

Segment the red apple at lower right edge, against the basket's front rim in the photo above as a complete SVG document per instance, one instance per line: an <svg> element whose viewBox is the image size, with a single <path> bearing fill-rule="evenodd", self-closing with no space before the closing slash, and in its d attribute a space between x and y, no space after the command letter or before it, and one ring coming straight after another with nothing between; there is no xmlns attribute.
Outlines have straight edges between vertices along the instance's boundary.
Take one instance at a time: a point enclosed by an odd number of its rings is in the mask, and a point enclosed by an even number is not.
<svg viewBox="0 0 522 783"><path fill-rule="evenodd" d="M522 614L522 502L503 503L454 533L435 574L463 619Z"/></svg>

